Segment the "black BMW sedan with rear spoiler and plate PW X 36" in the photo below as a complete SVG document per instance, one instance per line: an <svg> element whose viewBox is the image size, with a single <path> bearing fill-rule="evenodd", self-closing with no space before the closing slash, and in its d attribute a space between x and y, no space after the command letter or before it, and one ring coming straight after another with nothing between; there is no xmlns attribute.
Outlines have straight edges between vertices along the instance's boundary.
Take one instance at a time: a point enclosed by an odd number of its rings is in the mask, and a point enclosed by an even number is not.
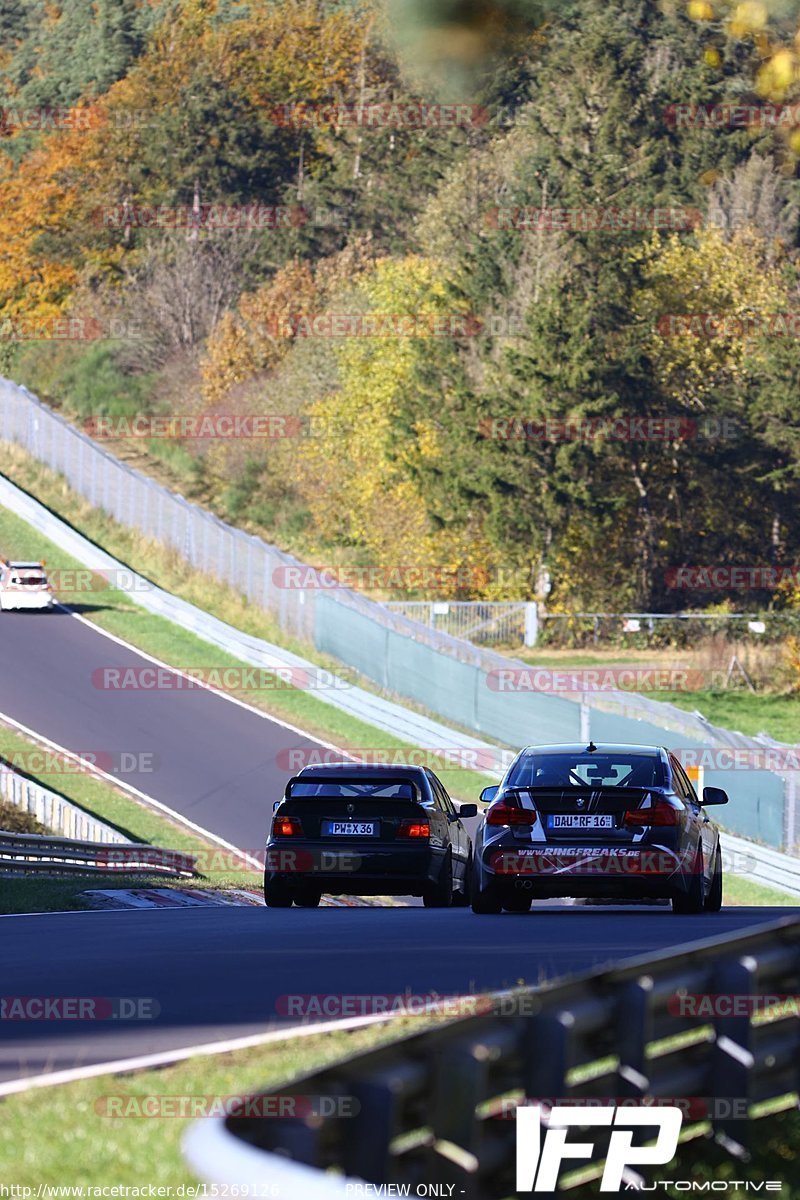
<svg viewBox="0 0 800 1200"><path fill-rule="evenodd" d="M337 762L305 767L275 806L266 842L270 908L332 895L415 895L426 907L469 904L473 842L426 767Z"/></svg>

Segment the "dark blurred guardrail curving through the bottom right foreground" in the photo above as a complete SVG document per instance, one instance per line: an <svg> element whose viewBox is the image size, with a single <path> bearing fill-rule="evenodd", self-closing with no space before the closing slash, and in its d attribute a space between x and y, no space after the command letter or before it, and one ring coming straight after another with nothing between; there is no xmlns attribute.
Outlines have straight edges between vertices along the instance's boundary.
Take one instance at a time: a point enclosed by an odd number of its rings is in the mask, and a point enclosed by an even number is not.
<svg viewBox="0 0 800 1200"><path fill-rule="evenodd" d="M275 1198L344 1198L356 1194L357 1180L408 1184L410 1195L417 1184L435 1182L453 1186L437 1194L501 1200L516 1194L519 1103L662 1100L685 1109L681 1142L706 1136L710 1127L721 1153L741 1157L754 1105L798 1105L796 1004L787 1015L764 1008L759 997L796 1001L799 991L800 920L790 918L495 996L488 1014L260 1093L251 1111L270 1110L266 1116L231 1115L192 1127L185 1153L203 1178L269 1184ZM735 1008L715 1001L716 1014L708 1016L694 998L705 996L744 998ZM306 1097L314 1115L278 1116L288 1093L301 1110ZM734 1098L739 1106L715 1104ZM602 1145L594 1177L602 1170ZM560 1188L569 1193L585 1181L582 1164L579 1175L561 1177Z"/></svg>

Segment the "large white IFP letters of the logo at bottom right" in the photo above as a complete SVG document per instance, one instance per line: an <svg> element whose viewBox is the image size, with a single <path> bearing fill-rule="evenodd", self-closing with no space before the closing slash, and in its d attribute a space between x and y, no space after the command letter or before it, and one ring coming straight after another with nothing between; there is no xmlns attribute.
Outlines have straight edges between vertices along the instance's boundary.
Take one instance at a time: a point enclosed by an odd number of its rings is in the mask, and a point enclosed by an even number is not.
<svg viewBox="0 0 800 1200"><path fill-rule="evenodd" d="M566 1159L594 1157L594 1142L567 1141L570 1126L614 1126L600 1190L620 1192L628 1168L663 1166L672 1162L682 1116L675 1105L587 1108L559 1104L549 1110L539 1104L521 1105L517 1109L517 1192L552 1194ZM542 1126L546 1128L543 1138ZM658 1129L655 1145L633 1145L634 1130L639 1127Z"/></svg>

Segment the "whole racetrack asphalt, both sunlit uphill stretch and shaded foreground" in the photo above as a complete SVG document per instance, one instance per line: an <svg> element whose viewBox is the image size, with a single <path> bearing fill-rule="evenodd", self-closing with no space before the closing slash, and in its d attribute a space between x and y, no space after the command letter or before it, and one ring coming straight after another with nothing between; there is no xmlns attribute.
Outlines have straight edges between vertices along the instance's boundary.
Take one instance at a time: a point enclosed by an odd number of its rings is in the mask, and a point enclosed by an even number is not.
<svg viewBox="0 0 800 1200"><path fill-rule="evenodd" d="M68 613L4 613L0 650L0 712L77 754L152 756L155 769L126 782L243 850L263 847L291 774L281 752L319 745L203 689L98 689L97 668L148 660ZM359 1001L341 997L536 984L784 914L537 902L500 917L420 906L0 917L0 998L142 997L158 1009L136 1022L0 1020L0 1079L296 1024L296 1003L281 1001L289 995L335 997L309 1012L313 1021L357 1015Z"/></svg>

